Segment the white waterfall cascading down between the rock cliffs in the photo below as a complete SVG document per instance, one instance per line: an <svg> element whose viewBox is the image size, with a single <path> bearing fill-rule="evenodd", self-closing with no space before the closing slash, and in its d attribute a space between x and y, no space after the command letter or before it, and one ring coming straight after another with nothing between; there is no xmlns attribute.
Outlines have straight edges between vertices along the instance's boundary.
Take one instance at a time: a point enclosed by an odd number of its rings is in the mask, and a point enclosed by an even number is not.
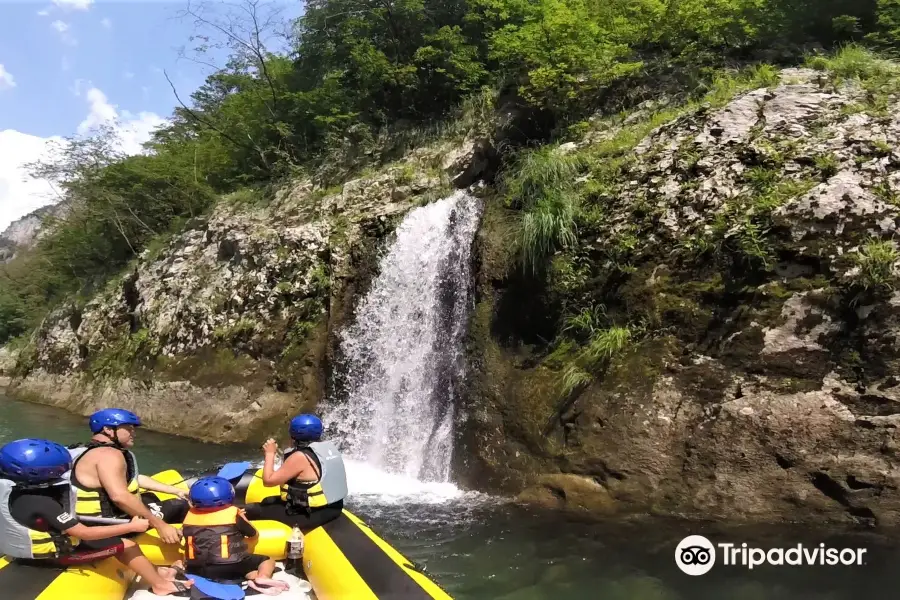
<svg viewBox="0 0 900 600"><path fill-rule="evenodd" d="M355 321L339 334L341 361L323 416L330 437L369 473L449 481L480 211L462 191L411 211Z"/></svg>

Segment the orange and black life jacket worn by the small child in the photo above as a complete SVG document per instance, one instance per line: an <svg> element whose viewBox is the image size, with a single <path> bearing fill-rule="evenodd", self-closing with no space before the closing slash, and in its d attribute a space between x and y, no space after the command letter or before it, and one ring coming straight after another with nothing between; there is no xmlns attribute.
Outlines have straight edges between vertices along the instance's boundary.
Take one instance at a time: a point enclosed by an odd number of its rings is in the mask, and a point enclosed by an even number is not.
<svg viewBox="0 0 900 600"><path fill-rule="evenodd" d="M189 510L181 529L188 563L228 565L250 556L237 520L238 509L233 505L212 512Z"/></svg>

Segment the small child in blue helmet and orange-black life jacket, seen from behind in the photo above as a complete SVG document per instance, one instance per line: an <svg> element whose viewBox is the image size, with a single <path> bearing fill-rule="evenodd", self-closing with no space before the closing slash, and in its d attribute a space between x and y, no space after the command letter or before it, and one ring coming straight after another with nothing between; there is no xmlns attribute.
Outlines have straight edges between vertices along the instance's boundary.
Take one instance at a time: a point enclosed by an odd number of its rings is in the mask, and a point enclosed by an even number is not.
<svg viewBox="0 0 900 600"><path fill-rule="evenodd" d="M272 579L275 561L251 554L245 538L259 535L243 510L234 506L234 487L221 477L203 477L190 490L191 510L184 519L186 570L213 581L243 581L260 593L274 596L290 589ZM190 576L189 575L189 576Z"/></svg>

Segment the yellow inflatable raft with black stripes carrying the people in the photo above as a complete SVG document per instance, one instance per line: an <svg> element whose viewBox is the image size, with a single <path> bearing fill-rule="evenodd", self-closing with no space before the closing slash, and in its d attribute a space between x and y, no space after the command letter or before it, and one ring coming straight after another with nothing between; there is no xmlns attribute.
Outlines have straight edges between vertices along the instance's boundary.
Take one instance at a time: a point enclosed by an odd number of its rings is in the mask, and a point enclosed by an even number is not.
<svg viewBox="0 0 900 600"><path fill-rule="evenodd" d="M154 479L187 490L194 478L177 471L158 473ZM238 503L259 502L277 495L277 488L262 485L261 470L247 470L232 480ZM161 500L170 498L157 494ZM251 551L284 559L291 528L275 521L254 521L259 536L248 540ZM181 558L180 546L165 544L155 531L135 541L156 565ZM303 570L317 600L452 600L347 510L337 519L313 529L304 537ZM127 600L134 573L114 558L91 565L59 568L34 561L0 557L0 597L10 600Z"/></svg>

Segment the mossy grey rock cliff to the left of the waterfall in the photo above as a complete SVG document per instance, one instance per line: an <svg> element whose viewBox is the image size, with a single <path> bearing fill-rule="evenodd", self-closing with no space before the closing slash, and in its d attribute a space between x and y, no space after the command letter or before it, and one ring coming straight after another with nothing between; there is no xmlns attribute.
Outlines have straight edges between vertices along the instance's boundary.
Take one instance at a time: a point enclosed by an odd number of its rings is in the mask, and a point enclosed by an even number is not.
<svg viewBox="0 0 900 600"><path fill-rule="evenodd" d="M466 176L474 154L462 141L330 189L300 181L224 198L106 289L48 316L7 364L19 375L12 391L83 414L132 408L154 429L206 440L280 432L322 398L331 333L384 238Z"/></svg>

